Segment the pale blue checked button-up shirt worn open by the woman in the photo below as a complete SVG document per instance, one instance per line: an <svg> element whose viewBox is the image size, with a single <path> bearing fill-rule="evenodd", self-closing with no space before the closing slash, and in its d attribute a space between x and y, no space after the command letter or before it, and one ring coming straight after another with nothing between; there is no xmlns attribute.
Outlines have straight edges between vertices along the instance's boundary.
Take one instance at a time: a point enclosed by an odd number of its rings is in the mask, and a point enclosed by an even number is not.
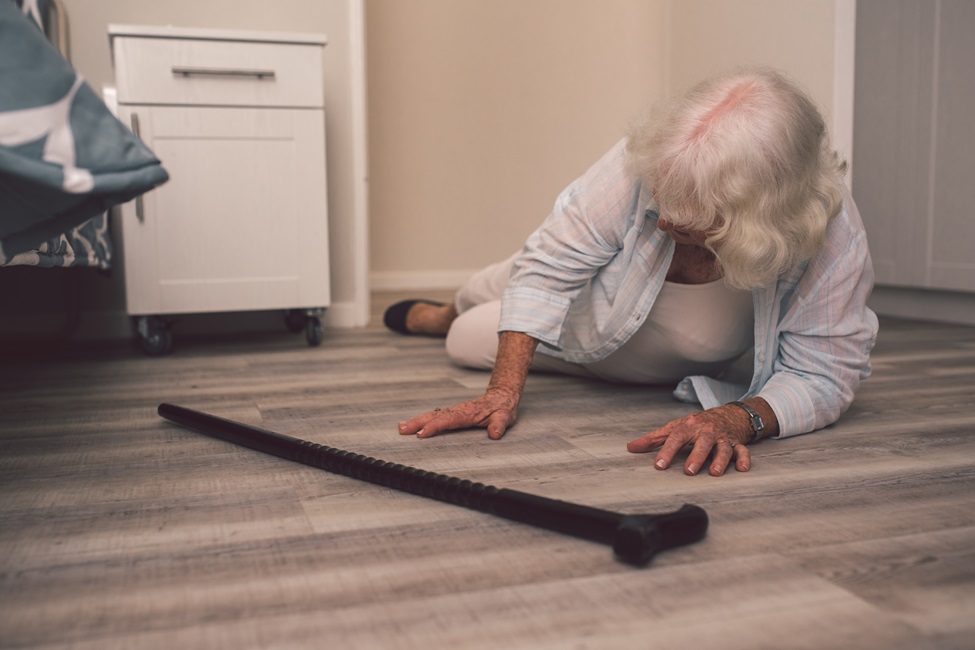
<svg viewBox="0 0 975 650"><path fill-rule="evenodd" d="M653 308L675 244L656 226L648 188L626 170L619 142L559 195L517 257L499 331L526 333L542 353L587 363L605 358ZM684 379L677 399L712 408L760 396L779 437L827 426L870 375L877 317L866 233L847 193L823 249L773 287L755 289L755 355L750 385Z"/></svg>

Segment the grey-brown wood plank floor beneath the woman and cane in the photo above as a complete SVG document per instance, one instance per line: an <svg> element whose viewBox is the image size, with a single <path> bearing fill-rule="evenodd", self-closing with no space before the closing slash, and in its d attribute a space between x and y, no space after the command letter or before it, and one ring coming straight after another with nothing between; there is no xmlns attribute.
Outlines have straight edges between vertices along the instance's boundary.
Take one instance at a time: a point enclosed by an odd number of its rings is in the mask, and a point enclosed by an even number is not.
<svg viewBox="0 0 975 650"><path fill-rule="evenodd" d="M396 296L376 297L374 310ZM828 430L723 478L625 443L666 390L532 377L521 421L400 437L476 395L440 341L327 332L4 349L0 646L973 648L975 329L882 319ZM161 420L172 402L388 461L610 510L702 506L643 569L605 546L288 463Z"/></svg>

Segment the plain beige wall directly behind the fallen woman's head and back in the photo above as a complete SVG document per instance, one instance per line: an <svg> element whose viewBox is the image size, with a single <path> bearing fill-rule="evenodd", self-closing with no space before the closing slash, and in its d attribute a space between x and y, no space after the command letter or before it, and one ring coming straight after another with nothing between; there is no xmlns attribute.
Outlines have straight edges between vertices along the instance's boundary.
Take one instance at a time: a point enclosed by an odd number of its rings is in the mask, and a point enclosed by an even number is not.
<svg viewBox="0 0 975 650"><path fill-rule="evenodd" d="M851 2L368 0L373 286L513 252L648 103L726 67L785 69L829 119Z"/></svg>

